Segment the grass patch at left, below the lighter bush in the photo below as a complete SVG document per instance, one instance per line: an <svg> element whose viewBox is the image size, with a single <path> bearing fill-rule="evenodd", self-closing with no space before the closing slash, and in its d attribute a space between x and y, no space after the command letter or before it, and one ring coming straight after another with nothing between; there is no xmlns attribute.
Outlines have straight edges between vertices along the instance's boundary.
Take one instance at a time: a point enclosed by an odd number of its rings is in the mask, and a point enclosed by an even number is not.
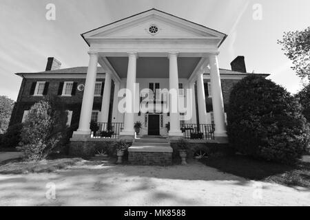
<svg viewBox="0 0 310 220"><path fill-rule="evenodd" d="M0 166L0 174L50 173L85 162L81 158L43 159L39 162L12 160Z"/></svg>

